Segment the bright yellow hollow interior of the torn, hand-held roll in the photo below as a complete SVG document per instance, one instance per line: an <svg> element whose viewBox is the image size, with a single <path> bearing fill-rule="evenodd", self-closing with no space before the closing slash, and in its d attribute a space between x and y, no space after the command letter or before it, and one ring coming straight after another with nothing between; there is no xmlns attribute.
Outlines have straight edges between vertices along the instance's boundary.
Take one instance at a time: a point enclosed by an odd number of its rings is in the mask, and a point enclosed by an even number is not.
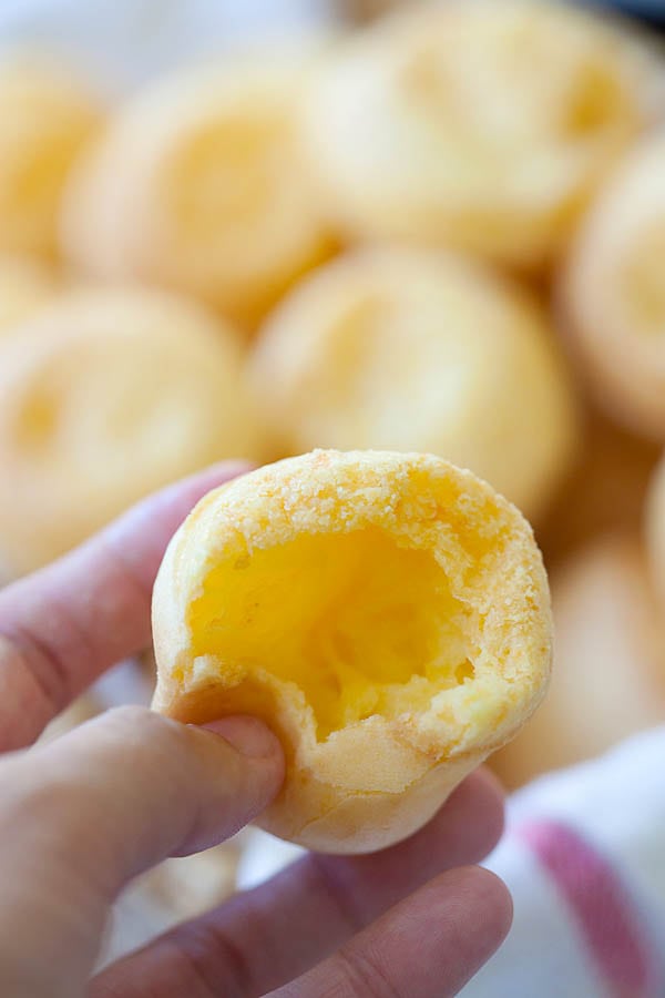
<svg viewBox="0 0 665 998"><path fill-rule="evenodd" d="M422 711L473 678L469 605L430 552L377 528L304 533L218 564L187 622L195 656L295 683L319 740Z"/></svg>

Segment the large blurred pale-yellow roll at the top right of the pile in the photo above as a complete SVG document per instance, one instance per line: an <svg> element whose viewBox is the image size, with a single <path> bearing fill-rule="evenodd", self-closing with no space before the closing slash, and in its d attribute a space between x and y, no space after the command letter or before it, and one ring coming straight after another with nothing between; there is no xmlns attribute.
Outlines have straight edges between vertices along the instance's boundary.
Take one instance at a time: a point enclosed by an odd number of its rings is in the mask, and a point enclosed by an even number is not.
<svg viewBox="0 0 665 998"><path fill-rule="evenodd" d="M345 233L536 268L651 116L654 77L642 47L572 7L423 4L330 61L304 134Z"/></svg>

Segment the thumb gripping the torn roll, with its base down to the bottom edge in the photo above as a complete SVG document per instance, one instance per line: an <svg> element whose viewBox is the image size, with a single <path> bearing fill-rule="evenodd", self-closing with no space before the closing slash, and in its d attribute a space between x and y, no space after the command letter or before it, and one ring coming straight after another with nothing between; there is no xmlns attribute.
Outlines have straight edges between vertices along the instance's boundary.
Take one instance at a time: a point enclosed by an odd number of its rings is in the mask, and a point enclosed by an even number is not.
<svg viewBox="0 0 665 998"><path fill-rule="evenodd" d="M120 707L0 763L7 994L60 995L53 967L62 994L76 994L126 880L232 835L277 793L284 760L267 727L252 717L208 727Z"/></svg>

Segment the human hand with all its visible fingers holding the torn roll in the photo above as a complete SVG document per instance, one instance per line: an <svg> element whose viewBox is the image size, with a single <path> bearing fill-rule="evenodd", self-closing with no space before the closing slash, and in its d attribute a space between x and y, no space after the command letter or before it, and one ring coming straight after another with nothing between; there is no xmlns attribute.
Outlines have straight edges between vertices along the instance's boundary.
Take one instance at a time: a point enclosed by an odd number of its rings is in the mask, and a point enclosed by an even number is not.
<svg viewBox="0 0 665 998"><path fill-rule="evenodd" d="M183 516L237 467L141 503L0 592L0 747L30 745L149 643L150 595ZM254 719L195 729L122 707L0 763L0 986L8 998L452 995L499 945L510 898L459 868L489 852L500 793L478 772L432 822L371 856L310 854L90 980L113 900L166 856L212 846L277 793L277 740Z"/></svg>

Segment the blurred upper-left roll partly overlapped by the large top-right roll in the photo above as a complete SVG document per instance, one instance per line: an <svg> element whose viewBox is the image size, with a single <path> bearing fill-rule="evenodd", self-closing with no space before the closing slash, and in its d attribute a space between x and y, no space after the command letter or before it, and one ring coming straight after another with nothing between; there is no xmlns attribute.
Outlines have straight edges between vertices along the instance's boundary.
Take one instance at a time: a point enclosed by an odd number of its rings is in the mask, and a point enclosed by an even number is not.
<svg viewBox="0 0 665 998"><path fill-rule="evenodd" d="M311 58L183 71L131 101L66 193L75 268L185 291L254 325L329 251L295 126Z"/></svg>

